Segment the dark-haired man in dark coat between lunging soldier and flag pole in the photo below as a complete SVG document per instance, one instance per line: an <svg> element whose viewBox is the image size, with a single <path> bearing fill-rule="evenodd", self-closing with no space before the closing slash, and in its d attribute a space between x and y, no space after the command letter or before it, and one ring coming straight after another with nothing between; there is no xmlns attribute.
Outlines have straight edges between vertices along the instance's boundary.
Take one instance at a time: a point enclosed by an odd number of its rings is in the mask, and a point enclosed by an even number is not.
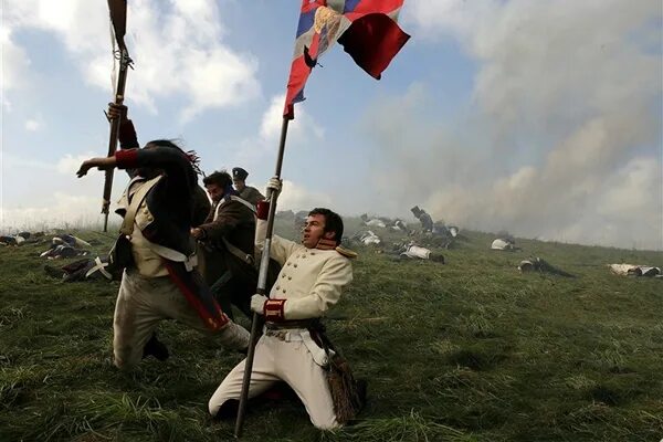
<svg viewBox="0 0 663 442"><path fill-rule="evenodd" d="M209 175L202 182L212 210L201 225L191 229L204 254L202 274L231 319L231 303L251 317L251 295L257 285L253 206L238 197L232 178L224 170Z"/></svg>

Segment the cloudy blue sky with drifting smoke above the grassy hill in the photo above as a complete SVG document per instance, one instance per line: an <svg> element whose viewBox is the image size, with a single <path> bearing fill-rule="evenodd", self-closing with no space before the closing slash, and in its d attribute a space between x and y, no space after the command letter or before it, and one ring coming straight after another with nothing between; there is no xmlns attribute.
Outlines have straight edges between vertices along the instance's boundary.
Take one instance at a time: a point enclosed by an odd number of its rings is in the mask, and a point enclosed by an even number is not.
<svg viewBox="0 0 663 442"><path fill-rule="evenodd" d="M297 0L128 0L139 141L274 175ZM0 232L102 221L104 1L1 0ZM406 0L380 81L328 51L290 125L278 210L663 250L659 0ZM115 201L127 183L115 173ZM113 207L112 207L113 210ZM112 214L112 217L114 217Z"/></svg>

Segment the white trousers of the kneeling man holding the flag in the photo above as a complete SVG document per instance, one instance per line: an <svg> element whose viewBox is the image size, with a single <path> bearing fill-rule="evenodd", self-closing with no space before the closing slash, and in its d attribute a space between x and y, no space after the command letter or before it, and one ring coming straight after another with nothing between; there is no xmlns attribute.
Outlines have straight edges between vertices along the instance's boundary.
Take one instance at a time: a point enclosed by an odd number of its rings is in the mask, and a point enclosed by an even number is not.
<svg viewBox="0 0 663 442"><path fill-rule="evenodd" d="M209 402L212 415L217 415L225 401L240 399L245 361L233 368L212 394ZM340 427L325 371L313 360L304 343L263 335L255 346L249 398L263 393L278 380L285 381L297 393L316 428Z"/></svg>

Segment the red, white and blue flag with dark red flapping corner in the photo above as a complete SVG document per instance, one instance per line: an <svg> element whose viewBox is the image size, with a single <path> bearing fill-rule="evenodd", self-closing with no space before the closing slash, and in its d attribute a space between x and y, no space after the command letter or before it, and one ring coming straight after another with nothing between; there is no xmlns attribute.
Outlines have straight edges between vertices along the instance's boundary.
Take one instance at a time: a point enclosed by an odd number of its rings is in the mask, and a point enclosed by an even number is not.
<svg viewBox="0 0 663 442"><path fill-rule="evenodd" d="M338 41L369 75L380 80L410 35L396 23L403 0L302 0L283 116L294 118L317 60Z"/></svg>

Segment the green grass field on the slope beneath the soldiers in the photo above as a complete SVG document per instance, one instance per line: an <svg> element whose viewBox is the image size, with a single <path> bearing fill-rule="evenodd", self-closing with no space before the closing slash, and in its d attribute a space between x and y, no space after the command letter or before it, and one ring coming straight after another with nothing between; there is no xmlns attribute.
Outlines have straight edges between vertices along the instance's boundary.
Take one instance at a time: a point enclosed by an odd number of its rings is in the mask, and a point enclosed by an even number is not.
<svg viewBox="0 0 663 442"><path fill-rule="evenodd" d="M359 422L322 433L296 401L263 403L242 440L659 442L663 281L606 264L661 266L663 253L529 240L497 252L494 235L463 233L440 250L445 264L354 246L355 282L327 326L369 380ZM96 253L110 242L78 235ZM118 285L46 276L46 246L0 248L0 441L232 440L234 422L213 422L207 401L241 355L168 322L170 359L118 371ZM528 256L575 277L518 273Z"/></svg>

